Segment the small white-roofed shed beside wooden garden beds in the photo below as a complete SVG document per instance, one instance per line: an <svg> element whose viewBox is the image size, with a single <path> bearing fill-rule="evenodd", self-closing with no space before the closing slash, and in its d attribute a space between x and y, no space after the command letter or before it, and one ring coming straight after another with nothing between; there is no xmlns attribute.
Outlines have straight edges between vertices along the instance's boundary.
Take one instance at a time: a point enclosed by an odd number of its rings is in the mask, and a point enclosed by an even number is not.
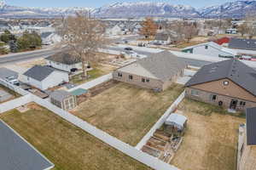
<svg viewBox="0 0 256 170"><path fill-rule="evenodd" d="M172 113L165 122L165 131L167 133L183 134L184 129L187 125L187 117Z"/></svg>

